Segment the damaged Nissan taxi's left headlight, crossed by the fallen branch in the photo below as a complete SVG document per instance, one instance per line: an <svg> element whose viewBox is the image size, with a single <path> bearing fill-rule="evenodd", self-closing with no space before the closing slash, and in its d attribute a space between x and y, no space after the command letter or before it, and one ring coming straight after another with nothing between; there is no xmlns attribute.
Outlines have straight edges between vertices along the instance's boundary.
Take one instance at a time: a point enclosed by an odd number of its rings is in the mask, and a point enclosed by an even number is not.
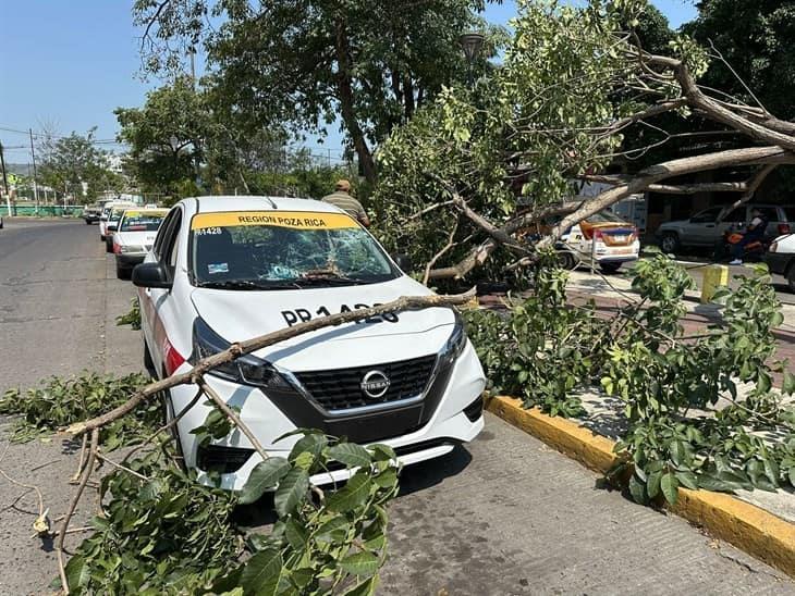
<svg viewBox="0 0 795 596"><path fill-rule="evenodd" d="M197 316L193 324L193 353L188 361L196 365L199 360L229 349L231 344L218 335ZM236 360L216 367L207 374L257 387L290 387L270 362L247 353Z"/></svg>

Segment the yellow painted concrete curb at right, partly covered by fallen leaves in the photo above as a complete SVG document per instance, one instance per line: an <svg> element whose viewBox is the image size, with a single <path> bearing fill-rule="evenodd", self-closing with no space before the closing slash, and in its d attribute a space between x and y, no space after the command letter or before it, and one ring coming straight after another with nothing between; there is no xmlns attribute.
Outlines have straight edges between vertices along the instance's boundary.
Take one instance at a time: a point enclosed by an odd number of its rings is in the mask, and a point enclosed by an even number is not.
<svg viewBox="0 0 795 596"><path fill-rule="evenodd" d="M614 443L571 420L526 410L513 397L489 397L486 409L597 472L617 461ZM680 487L670 509L766 563L795 578L795 524L723 493Z"/></svg>

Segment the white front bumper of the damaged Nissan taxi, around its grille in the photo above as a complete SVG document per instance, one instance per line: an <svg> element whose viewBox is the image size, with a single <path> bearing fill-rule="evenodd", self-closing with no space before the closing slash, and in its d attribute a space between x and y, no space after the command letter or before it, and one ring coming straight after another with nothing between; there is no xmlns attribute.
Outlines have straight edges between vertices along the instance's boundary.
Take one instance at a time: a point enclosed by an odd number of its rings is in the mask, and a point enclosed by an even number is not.
<svg viewBox="0 0 795 596"><path fill-rule="evenodd" d="M306 427L306 423L294 420L296 418L294 412L285 413L277 406L274 399L266 396L257 387L240 385L212 375L207 375L205 378L230 406L236 406L241 409L242 420L254 432L268 455L288 457L301 435L293 435L279 442L277 439L299 427ZM395 434L391 431L389 424L382 424L379 419L389 421L390 413L393 411L400 412L401 409L395 407L382 410L374 413L367 420L368 425L375 425L379 430L369 432L368 439L360 443L389 445L397 451L397 461L407 465L443 456L450 452L456 444L474 439L484 427L484 418L479 415L474 421L470 420L470 417L474 417L472 409L467 407L470 407L482 394L486 378L472 344L467 343L462 355L450 367L450 374L445 381L447 386L443 387L435 409L427 417L427 422L420 427ZM192 401L196 390L197 387L194 385L181 385L172 388L172 412L181 412ZM426 395L427 398L428 395ZM296 399L307 398L296 396ZM196 468L198 480L208 484L210 483L210 475L197 468L199 444L196 440L196 435L191 434L191 431L204 423L210 410L210 407L198 403L178 423L185 463L188 468ZM402 422L400 418L395 420L397 423ZM351 427L354 433L360 431L356 425ZM329 432L328 434L334 433ZM353 435L347 436L352 440L355 439ZM252 449L250 442L238 430L221 440L213 442L212 445ZM260 461L259 455L252 452L245 463L235 472L220 474L220 486L225 489L240 491L248 480L254 467ZM354 472L355 470L335 470L317 474L311 480L315 484L329 484L345 480Z"/></svg>

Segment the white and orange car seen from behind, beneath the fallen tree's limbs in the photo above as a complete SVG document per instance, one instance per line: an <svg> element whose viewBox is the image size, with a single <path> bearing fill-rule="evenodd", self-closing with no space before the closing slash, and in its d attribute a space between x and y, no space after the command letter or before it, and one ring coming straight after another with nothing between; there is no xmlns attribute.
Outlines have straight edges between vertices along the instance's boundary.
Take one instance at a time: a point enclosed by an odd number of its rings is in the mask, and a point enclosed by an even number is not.
<svg viewBox="0 0 795 596"><path fill-rule="evenodd" d="M602 211L572 226L556 248L566 269L594 261L606 273L615 273L622 263L638 259L640 240L633 224Z"/></svg>

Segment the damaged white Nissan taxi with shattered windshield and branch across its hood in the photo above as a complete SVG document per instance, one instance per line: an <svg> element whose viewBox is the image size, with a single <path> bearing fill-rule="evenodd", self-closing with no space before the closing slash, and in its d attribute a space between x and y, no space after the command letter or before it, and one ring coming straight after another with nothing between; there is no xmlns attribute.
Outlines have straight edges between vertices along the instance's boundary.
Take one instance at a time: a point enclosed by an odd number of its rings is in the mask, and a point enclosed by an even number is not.
<svg viewBox="0 0 795 596"><path fill-rule="evenodd" d="M157 376L231 343L331 313L431 291L395 265L357 222L308 199L199 197L171 209L155 246L133 270L145 363ZM374 316L264 348L207 375L208 384L266 450L290 451L296 429L392 446L404 464L439 457L484 427L484 371L458 314L449 308ZM173 419L196 395L170 390ZM235 431L209 444L191 431L210 408L176 424L199 480L240 489L259 456ZM323 484L345 470L315 476Z"/></svg>

